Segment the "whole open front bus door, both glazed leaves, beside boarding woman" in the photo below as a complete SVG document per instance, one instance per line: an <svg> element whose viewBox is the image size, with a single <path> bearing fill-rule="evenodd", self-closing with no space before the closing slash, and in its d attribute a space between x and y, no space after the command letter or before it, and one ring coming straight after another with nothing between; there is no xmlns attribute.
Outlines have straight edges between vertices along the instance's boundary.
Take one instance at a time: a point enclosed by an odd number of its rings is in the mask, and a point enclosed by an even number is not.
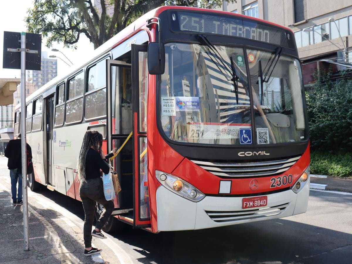
<svg viewBox="0 0 352 264"><path fill-rule="evenodd" d="M113 159L112 165L121 185L121 191L114 200L113 215L133 223L134 228L150 227L146 179L146 51L146 45L132 45L132 64L111 59L106 61L107 150L119 149L129 134L133 134Z"/></svg>

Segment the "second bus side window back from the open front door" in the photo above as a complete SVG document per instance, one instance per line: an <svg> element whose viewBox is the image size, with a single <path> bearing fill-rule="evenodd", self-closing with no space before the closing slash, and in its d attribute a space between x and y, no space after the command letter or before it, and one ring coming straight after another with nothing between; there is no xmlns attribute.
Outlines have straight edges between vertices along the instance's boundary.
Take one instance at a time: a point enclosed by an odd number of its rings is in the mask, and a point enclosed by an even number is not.
<svg viewBox="0 0 352 264"><path fill-rule="evenodd" d="M82 121L84 71L71 78L67 87L65 123Z"/></svg>

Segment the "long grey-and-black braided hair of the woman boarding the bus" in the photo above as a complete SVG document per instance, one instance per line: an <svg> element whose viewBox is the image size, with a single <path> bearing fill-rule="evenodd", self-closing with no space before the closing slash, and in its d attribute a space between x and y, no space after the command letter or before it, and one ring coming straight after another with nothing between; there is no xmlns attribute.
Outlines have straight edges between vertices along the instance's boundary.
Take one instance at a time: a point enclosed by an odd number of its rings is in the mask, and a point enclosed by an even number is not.
<svg viewBox="0 0 352 264"><path fill-rule="evenodd" d="M90 146L93 146L100 153L102 142L103 136L96 130L87 130L84 134L81 150L77 157L78 179L81 182L86 181L86 156Z"/></svg>

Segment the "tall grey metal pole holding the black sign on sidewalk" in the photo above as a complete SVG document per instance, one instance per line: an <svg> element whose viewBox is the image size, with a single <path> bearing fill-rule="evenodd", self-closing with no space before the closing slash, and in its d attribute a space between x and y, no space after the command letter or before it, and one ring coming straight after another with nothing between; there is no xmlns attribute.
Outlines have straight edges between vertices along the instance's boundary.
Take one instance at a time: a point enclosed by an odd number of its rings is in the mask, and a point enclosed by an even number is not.
<svg viewBox="0 0 352 264"><path fill-rule="evenodd" d="M21 32L21 149L24 251L29 251L26 147L26 32Z"/></svg>

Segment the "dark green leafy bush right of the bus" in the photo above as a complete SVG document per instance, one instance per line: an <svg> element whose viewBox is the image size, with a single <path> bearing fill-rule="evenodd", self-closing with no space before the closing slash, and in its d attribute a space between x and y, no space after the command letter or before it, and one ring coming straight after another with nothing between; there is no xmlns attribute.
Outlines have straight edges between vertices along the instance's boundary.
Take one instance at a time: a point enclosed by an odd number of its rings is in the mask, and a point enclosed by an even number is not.
<svg viewBox="0 0 352 264"><path fill-rule="evenodd" d="M306 94L312 150L351 152L352 80L334 83L330 73L316 74L314 92Z"/></svg>

